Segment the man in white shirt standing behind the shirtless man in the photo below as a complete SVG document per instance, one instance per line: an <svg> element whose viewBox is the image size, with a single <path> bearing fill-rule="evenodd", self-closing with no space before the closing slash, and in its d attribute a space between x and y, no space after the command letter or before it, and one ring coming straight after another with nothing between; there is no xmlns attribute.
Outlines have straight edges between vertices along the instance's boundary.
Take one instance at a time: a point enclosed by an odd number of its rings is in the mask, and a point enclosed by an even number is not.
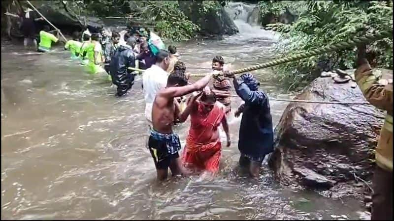
<svg viewBox="0 0 394 221"><path fill-rule="evenodd" d="M155 101L156 94L167 85L168 73L165 70L167 70L169 62L169 53L160 50L156 55L156 63L146 69L142 76L145 118L149 126L152 126L152 105Z"/></svg>

